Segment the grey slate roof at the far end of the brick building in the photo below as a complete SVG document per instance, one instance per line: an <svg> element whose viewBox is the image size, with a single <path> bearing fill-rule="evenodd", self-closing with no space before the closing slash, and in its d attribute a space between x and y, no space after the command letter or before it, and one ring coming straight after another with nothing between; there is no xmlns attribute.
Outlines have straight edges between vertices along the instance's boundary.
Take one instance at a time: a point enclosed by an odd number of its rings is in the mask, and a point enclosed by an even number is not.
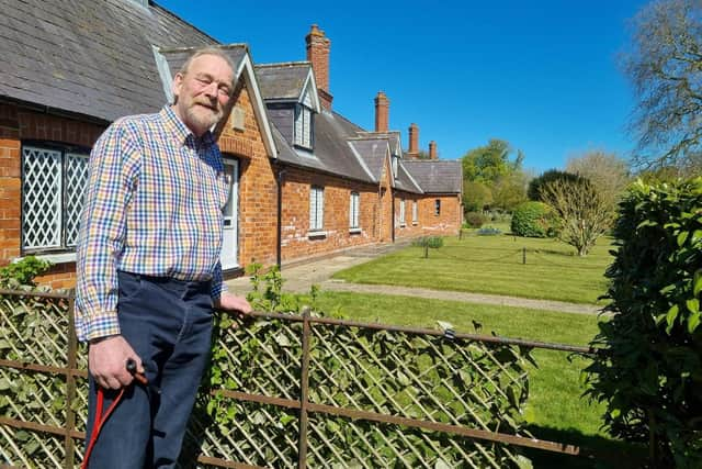
<svg viewBox="0 0 702 469"><path fill-rule="evenodd" d="M412 159L403 166L427 193L461 193L463 167L460 160Z"/></svg>

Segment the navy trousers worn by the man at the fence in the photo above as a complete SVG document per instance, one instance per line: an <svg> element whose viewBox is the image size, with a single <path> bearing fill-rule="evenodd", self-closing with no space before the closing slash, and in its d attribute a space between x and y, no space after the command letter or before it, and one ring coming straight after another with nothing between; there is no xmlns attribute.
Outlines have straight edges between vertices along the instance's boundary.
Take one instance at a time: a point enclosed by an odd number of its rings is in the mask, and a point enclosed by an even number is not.
<svg viewBox="0 0 702 469"><path fill-rule="evenodd" d="M102 426L90 469L174 468L202 373L210 360L210 282L118 272L122 336L141 357L147 387L136 381ZM87 442L97 388L89 378ZM116 392L105 393L103 411Z"/></svg>

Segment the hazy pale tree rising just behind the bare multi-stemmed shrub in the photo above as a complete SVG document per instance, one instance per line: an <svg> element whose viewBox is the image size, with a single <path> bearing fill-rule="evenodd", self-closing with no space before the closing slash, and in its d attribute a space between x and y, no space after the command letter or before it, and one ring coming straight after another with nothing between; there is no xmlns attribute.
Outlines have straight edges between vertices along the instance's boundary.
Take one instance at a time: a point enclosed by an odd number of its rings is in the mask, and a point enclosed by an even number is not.
<svg viewBox="0 0 702 469"><path fill-rule="evenodd" d="M569 158L566 171L588 179L612 205L616 204L631 181L629 164L615 154L600 149Z"/></svg>

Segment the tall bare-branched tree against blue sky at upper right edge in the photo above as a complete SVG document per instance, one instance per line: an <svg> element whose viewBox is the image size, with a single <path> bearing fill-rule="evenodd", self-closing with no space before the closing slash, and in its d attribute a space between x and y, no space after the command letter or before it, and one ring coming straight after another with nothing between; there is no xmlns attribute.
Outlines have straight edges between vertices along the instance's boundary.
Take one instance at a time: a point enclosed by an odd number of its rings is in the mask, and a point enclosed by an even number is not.
<svg viewBox="0 0 702 469"><path fill-rule="evenodd" d="M623 55L638 100L636 163L702 169L702 2L654 1L634 18Z"/></svg>

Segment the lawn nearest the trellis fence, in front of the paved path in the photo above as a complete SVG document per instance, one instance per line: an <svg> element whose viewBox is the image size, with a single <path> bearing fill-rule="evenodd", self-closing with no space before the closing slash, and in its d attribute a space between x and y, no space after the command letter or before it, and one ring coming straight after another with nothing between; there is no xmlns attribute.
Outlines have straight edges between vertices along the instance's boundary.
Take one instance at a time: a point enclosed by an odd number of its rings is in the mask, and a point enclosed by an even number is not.
<svg viewBox="0 0 702 469"><path fill-rule="evenodd" d="M322 311L340 308L354 321L380 322L433 328L437 321L453 324L457 332L519 337L540 342L587 345L598 331L598 316L568 314L497 305L418 298L373 295L346 292L322 292L318 299ZM613 440L600 428L603 406L581 399L584 387L580 371L588 361L568 354L535 349L539 367L530 366L530 397L524 417L528 428L542 439L581 445L597 451L630 454L637 464L637 449ZM607 466L567 456L529 451L535 468L591 468L627 466L619 461ZM635 466L632 466L635 467Z"/></svg>

